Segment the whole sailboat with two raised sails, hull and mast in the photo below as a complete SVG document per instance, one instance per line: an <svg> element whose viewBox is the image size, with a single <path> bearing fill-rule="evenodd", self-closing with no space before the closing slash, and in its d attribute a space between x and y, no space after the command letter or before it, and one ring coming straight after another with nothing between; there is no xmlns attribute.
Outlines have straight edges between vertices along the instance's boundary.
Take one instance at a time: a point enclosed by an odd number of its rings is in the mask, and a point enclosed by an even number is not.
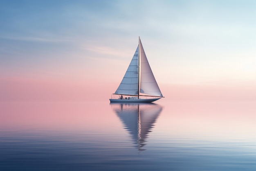
<svg viewBox="0 0 256 171"><path fill-rule="evenodd" d="M119 95L119 98L109 99L110 103L150 103L164 97L150 68L140 38L132 61L114 94Z"/></svg>

